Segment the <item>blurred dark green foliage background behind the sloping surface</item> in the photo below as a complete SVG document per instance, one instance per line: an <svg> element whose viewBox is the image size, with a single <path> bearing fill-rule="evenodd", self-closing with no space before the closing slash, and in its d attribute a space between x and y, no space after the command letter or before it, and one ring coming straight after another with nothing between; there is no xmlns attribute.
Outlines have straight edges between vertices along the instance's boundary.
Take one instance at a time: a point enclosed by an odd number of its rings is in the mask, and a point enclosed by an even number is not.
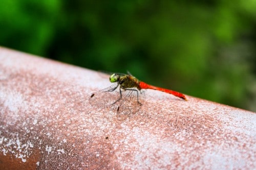
<svg viewBox="0 0 256 170"><path fill-rule="evenodd" d="M0 45L256 112L256 1L2 0Z"/></svg>

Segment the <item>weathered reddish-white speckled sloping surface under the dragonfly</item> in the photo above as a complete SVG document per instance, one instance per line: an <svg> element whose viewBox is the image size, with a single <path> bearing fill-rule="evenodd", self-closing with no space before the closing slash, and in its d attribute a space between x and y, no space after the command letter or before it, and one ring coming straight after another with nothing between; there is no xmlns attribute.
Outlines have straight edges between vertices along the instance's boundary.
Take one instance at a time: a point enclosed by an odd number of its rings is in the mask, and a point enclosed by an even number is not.
<svg viewBox="0 0 256 170"><path fill-rule="evenodd" d="M256 168L253 112L145 90L120 120L88 102L103 74L1 47L0 61L0 169Z"/></svg>

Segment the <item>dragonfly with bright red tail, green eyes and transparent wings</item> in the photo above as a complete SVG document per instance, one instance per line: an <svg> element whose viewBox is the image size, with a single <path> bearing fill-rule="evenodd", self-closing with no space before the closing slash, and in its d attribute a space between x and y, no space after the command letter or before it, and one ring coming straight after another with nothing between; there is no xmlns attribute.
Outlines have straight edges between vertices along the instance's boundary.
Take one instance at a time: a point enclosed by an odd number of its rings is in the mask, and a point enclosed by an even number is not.
<svg viewBox="0 0 256 170"><path fill-rule="evenodd" d="M142 89L162 91L187 101L186 96L180 92L146 84L130 73L112 74L109 80L113 85L94 92L90 96L91 105L98 107L112 106L113 109L122 114L134 113L142 105L139 98Z"/></svg>

